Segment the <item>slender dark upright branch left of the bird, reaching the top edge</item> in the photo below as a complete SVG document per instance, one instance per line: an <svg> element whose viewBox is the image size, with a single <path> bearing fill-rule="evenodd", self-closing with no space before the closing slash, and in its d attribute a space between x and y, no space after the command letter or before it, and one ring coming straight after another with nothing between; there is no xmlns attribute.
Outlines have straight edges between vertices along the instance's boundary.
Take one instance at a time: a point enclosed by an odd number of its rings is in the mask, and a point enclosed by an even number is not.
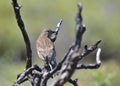
<svg viewBox="0 0 120 86"><path fill-rule="evenodd" d="M25 45L26 45L26 53L27 53L27 63L26 63L26 69L32 66L32 50L31 50L31 44L30 44L30 40L28 37L28 34L25 30L25 26L24 26L24 22L21 18L20 15L20 8L21 6L18 5L17 0L12 0L12 6L14 8L14 13L16 16L16 20L18 23L18 26L22 32L24 41L25 41Z"/></svg>

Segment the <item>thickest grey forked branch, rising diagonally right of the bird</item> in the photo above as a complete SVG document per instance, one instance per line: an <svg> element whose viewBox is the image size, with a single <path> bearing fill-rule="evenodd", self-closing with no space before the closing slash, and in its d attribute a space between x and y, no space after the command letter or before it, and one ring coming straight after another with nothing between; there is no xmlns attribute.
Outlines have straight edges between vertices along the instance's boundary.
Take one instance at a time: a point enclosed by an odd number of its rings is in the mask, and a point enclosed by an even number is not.
<svg viewBox="0 0 120 86"><path fill-rule="evenodd" d="M82 41L83 33L86 30L85 25L82 23L82 5L81 3L78 4L78 13L76 15L76 40L75 43L72 45L72 47L69 49L69 52L67 53L66 59L64 60L59 78L56 80L55 83L53 83L52 86L63 86L66 82L68 82L73 75L73 73L76 70L76 67L78 65L78 62L85 57L86 55L90 54L92 51L94 51L98 44L101 41L98 41L95 45L87 48L85 46L85 49L80 52L80 46ZM93 66L91 66L93 67ZM94 67L95 68L95 67Z"/></svg>

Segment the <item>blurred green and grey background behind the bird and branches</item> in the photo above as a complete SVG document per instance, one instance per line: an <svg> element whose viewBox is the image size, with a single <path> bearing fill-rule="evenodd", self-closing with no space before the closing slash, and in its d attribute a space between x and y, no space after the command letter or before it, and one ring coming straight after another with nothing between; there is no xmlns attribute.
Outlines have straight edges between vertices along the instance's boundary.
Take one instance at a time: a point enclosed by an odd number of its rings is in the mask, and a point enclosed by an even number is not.
<svg viewBox="0 0 120 86"><path fill-rule="evenodd" d="M120 86L120 1L119 0L18 0L21 15L31 40L33 64L42 66L35 42L40 32L55 29L62 18L63 24L55 42L57 61L64 56L75 38L75 14L77 4L83 4L83 23L87 30L82 46L92 45L101 39L102 65L96 70L77 70L81 86ZM0 0L0 86L10 86L17 74L25 68L25 44L17 26L11 0ZM81 63L95 63L95 52ZM49 83L51 80L49 81ZM28 82L21 86L29 86ZM67 83L68 86L72 86Z"/></svg>

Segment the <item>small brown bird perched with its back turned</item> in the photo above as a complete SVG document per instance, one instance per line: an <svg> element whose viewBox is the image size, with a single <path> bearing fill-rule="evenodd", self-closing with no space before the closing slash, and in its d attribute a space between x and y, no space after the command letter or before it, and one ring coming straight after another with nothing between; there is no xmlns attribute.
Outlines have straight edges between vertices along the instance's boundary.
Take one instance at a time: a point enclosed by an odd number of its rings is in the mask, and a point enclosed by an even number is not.
<svg viewBox="0 0 120 86"><path fill-rule="evenodd" d="M54 69L57 65L54 33L55 31L45 29L36 41L38 56L44 61L47 71Z"/></svg>

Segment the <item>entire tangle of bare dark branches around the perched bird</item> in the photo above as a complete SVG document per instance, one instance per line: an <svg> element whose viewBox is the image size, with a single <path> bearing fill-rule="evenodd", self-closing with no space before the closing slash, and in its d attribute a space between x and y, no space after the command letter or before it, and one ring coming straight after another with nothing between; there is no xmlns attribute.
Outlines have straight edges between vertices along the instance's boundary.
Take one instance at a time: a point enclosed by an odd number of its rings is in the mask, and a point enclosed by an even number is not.
<svg viewBox="0 0 120 86"><path fill-rule="evenodd" d="M78 79L72 80L71 77L77 69L97 69L101 65L100 61L100 53L101 49L98 48L101 40L97 41L94 45L88 47L84 46L84 49L81 49L81 42L84 32L86 31L86 27L83 24L82 18L82 4L78 4L78 13L75 18L75 41L68 49L67 53L64 55L62 60L58 62L56 67L51 71L45 71L45 68L40 68L38 65L32 66L32 50L30 45L30 40L25 30L24 22L20 15L21 6L18 5L17 0L12 0L12 5L14 9L14 13L16 16L16 20L18 26L22 32L27 51L27 62L26 62L26 70L24 70L21 74L18 75L17 80L15 81L13 86L19 86L25 81L30 81L32 86L47 86L48 80L55 75L55 73L59 72L58 79L52 83L51 86L63 86L66 82L71 83L73 86L79 86L77 83ZM60 30L60 26L62 24L62 19L58 22L56 30L54 31L54 35L51 37L51 40L55 42L57 39L58 32ZM80 64L79 61L83 59L85 56L89 55L94 50L97 50L96 54L96 64Z"/></svg>

